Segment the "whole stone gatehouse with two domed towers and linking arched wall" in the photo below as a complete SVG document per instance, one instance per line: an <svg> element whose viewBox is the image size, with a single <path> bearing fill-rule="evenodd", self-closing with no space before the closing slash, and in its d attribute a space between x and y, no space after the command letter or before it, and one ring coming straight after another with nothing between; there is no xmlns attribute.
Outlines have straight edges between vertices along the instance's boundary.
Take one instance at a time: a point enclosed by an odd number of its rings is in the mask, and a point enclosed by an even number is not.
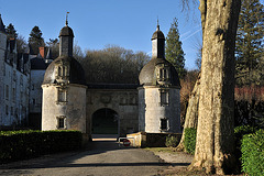
<svg viewBox="0 0 264 176"><path fill-rule="evenodd" d="M73 57L73 38L66 21L59 32L59 56L47 67L42 84L42 130L79 130L90 138L92 133L180 132L180 84L165 59L158 24L140 85L87 84L85 70Z"/></svg>

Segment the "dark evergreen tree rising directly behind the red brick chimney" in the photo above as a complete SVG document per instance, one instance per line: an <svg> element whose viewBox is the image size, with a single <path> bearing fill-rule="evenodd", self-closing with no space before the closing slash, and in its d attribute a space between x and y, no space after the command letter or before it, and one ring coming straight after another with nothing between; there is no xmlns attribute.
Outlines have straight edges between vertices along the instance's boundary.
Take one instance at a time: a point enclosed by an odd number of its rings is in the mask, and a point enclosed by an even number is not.
<svg viewBox="0 0 264 176"><path fill-rule="evenodd" d="M42 31L38 26L34 26L30 33L29 44L32 54L38 54L38 47L44 46L44 38L42 37Z"/></svg>

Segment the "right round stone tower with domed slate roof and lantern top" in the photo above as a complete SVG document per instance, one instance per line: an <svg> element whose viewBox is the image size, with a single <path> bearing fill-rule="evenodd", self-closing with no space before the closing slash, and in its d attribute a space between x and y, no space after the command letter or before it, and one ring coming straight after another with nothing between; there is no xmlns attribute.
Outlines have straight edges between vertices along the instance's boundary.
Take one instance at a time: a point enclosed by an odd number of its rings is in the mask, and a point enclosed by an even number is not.
<svg viewBox="0 0 264 176"><path fill-rule="evenodd" d="M180 131L180 82L174 66L165 59L165 37L152 35L152 59L140 73L139 130L148 133Z"/></svg>

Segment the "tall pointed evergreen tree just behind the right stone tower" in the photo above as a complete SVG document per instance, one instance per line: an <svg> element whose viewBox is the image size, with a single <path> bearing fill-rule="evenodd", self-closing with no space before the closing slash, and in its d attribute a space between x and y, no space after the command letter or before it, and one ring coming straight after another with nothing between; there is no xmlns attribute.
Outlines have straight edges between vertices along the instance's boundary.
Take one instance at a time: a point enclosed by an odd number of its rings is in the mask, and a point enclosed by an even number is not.
<svg viewBox="0 0 264 176"><path fill-rule="evenodd" d="M182 42L179 41L178 21L175 18L166 36L166 59L174 65L179 78L184 78L186 75L184 56Z"/></svg>

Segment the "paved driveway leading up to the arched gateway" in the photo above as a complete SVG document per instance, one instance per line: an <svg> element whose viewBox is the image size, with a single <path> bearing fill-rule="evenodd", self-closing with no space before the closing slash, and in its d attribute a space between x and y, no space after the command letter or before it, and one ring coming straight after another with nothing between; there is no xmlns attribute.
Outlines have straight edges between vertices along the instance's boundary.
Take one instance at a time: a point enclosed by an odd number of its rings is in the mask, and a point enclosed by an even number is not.
<svg viewBox="0 0 264 176"><path fill-rule="evenodd" d="M101 138L101 136L100 136ZM167 164L141 148L119 147L116 139L94 139L82 152L0 166L1 176L154 176Z"/></svg>

